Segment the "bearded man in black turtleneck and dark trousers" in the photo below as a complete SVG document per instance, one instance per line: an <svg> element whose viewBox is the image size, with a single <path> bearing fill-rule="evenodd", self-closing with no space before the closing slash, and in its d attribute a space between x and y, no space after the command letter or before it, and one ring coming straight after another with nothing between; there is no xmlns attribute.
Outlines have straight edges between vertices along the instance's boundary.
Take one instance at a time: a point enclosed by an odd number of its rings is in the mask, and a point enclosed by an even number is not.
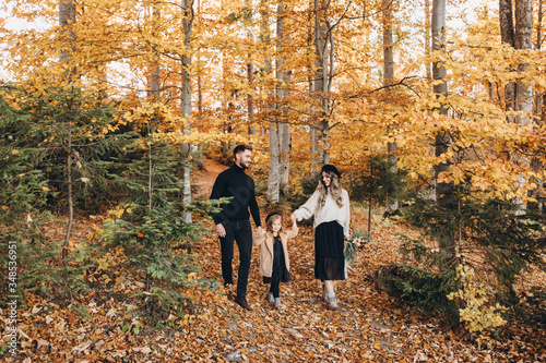
<svg viewBox="0 0 546 363"><path fill-rule="evenodd" d="M261 232L260 210L256 202L254 181L245 173L250 166L252 148L238 145L234 149L235 165L218 174L212 187L211 199L233 197L229 203L222 204L222 211L213 215L216 233L222 249L222 276L224 286L233 285L232 261L234 257L234 241L239 247L239 277L237 279L237 297L235 302L241 307L252 311L247 303L247 283L252 254L252 228L250 213L258 232Z"/></svg>

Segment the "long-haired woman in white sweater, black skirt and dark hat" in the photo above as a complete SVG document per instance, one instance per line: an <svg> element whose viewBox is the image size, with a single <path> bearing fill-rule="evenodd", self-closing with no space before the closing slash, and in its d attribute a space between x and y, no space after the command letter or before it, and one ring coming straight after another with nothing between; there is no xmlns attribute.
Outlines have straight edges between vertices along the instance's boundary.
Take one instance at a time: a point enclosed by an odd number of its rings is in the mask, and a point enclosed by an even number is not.
<svg viewBox="0 0 546 363"><path fill-rule="evenodd" d="M343 250L351 222L348 193L340 178L336 167L323 166L317 190L292 215L298 221L314 216L314 278L323 282L323 298L332 310L337 308L333 281L346 278Z"/></svg>

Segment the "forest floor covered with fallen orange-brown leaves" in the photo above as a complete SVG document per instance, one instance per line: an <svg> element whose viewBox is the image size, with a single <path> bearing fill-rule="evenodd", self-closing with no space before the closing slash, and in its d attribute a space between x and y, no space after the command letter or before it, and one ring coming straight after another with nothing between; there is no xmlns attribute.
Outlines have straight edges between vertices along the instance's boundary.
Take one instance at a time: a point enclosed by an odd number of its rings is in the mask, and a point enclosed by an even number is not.
<svg viewBox="0 0 546 363"><path fill-rule="evenodd" d="M206 164L199 183L207 193L223 169ZM353 211L354 229L365 230L364 210ZM98 218L97 218L98 219ZM212 230L212 221L203 220ZM434 316L403 306L365 281L378 267L401 262L396 233L415 235L404 226L377 218L371 242L337 282L340 310L329 311L313 279L313 237L301 228L289 245L292 278L281 285L283 307L265 301L268 287L258 271L258 249L252 254L248 301L241 310L223 291L192 290L203 307L195 316L171 316L175 328L146 329L131 314L132 294L144 285L130 271L116 269L87 276L95 289L73 301L29 295L28 308L19 312L24 362L543 362L546 332L527 326L500 329L496 339L471 337ZM80 220L82 241L98 220ZM55 229L52 229L55 232ZM59 229L58 232L60 232ZM211 231L195 243L200 278L221 279L219 246ZM236 254L237 255L237 254ZM119 258L122 258L120 256ZM235 258L234 266L238 266ZM236 268L235 268L236 271ZM5 314L2 314L5 316ZM12 360L4 354L8 361Z"/></svg>

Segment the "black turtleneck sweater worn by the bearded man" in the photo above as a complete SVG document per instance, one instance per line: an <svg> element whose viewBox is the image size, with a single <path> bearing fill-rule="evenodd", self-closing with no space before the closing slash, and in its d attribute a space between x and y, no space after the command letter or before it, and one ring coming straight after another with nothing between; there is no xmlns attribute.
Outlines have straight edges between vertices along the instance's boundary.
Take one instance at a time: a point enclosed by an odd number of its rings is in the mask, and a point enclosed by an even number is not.
<svg viewBox="0 0 546 363"><path fill-rule="evenodd" d="M250 211L256 227L260 227L260 211L256 202L254 181L245 173L245 169L234 165L218 174L212 187L211 199L233 196L227 204L221 204L222 211L214 214L216 225L234 220L249 219Z"/></svg>

